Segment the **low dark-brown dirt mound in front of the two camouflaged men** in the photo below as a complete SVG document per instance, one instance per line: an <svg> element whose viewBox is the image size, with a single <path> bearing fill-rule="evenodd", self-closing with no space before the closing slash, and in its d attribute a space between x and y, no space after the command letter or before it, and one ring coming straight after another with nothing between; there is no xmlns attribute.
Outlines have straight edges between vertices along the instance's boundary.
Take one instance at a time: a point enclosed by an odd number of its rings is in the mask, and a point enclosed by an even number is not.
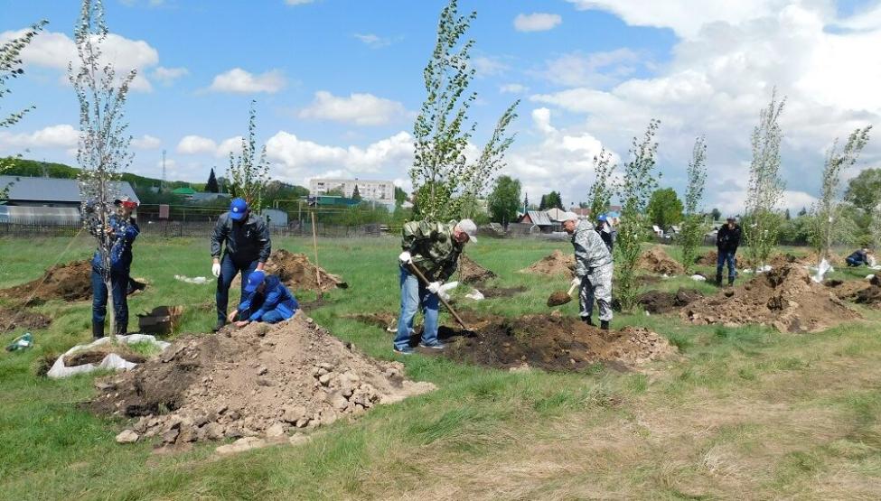
<svg viewBox="0 0 881 501"><path fill-rule="evenodd" d="M446 357L500 368L577 371L596 362L640 366L676 353L667 339L638 327L601 330L555 315L469 322L476 334L449 341Z"/></svg>

